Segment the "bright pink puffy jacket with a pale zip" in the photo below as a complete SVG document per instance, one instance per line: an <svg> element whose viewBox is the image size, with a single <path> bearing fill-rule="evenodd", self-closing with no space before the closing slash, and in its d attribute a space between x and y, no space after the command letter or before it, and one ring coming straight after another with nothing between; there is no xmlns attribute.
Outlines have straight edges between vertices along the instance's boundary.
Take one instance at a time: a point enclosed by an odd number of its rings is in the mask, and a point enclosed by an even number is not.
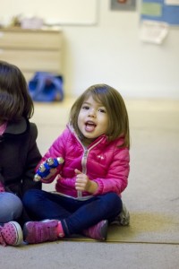
<svg viewBox="0 0 179 269"><path fill-rule="evenodd" d="M108 142L107 136L101 135L88 147L84 147L72 126L68 125L40 161L46 161L49 157L63 157L64 163L59 165L55 176L42 179L42 182L51 183L56 179L56 192L77 199L87 198L91 196L90 193L75 189L74 169L79 169L98 184L97 191L92 195L108 192L121 195L127 187L130 170L128 148L118 147L123 142L123 137Z"/></svg>

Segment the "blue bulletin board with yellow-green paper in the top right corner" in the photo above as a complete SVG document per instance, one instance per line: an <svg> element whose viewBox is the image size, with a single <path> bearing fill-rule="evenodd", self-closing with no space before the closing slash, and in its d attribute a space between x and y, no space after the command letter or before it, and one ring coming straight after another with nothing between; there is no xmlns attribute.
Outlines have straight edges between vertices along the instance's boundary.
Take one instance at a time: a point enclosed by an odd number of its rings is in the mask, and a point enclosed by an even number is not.
<svg viewBox="0 0 179 269"><path fill-rule="evenodd" d="M141 20L179 26L179 0L142 0Z"/></svg>

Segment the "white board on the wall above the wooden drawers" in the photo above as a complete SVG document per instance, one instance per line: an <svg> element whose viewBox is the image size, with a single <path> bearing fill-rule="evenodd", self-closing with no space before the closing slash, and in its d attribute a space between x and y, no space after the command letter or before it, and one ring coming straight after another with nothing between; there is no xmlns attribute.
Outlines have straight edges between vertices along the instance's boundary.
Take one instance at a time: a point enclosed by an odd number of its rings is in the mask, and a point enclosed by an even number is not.
<svg viewBox="0 0 179 269"><path fill-rule="evenodd" d="M98 0L0 0L0 17L38 16L49 24L84 24L97 22Z"/></svg>

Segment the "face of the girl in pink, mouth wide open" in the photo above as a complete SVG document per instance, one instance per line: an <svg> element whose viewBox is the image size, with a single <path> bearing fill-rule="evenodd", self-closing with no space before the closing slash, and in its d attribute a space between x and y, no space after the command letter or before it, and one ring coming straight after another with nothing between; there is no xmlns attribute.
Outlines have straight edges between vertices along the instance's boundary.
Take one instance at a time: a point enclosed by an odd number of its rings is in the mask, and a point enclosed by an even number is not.
<svg viewBox="0 0 179 269"><path fill-rule="evenodd" d="M91 142L101 134L107 134L107 109L90 96L81 106L78 126L81 133Z"/></svg>

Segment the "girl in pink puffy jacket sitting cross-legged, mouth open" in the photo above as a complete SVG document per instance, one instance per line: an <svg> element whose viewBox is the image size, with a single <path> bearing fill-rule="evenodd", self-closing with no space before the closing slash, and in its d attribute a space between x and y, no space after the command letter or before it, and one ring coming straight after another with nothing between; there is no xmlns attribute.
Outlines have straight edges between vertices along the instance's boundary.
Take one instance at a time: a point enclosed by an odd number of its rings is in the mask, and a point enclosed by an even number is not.
<svg viewBox="0 0 179 269"><path fill-rule="evenodd" d="M121 194L129 175L129 121L120 93L106 84L90 86L74 102L70 122L44 155L64 159L43 183L56 180L55 192L29 190L23 204L29 244L74 234L107 239L107 226L129 224Z"/></svg>

